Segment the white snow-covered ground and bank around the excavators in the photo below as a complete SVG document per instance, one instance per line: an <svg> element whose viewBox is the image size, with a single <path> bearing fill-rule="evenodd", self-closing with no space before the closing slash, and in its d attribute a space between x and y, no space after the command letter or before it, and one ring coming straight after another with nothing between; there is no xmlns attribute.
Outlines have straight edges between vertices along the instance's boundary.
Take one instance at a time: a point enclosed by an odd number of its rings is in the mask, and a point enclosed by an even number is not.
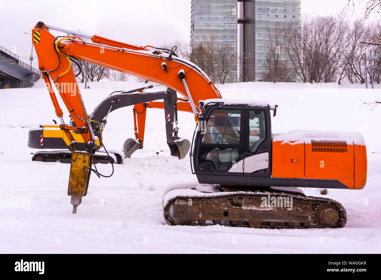
<svg viewBox="0 0 381 280"><path fill-rule="evenodd" d="M111 91L141 85L94 82L81 93L90 113ZM368 151L365 189L330 189L327 195L347 209L347 226L303 230L166 225L163 190L168 184L195 184L197 179L191 174L189 158L169 156L165 116L158 109L147 112L144 149L115 166L111 178L98 179L93 174L88 195L77 214L71 214L70 197L66 195L70 166L32 162L30 153L36 150L27 147L30 126L57 119L43 86L38 83L32 89L0 90L0 197L30 198L29 210L0 208L0 253L381 253L381 106L373 111L359 106L361 100L380 97L380 86L365 90L364 85L217 85L224 98L278 104L277 116L272 119L273 133L311 129L363 134ZM110 114L103 133L107 149L122 150L124 139L133 137L131 109ZM189 113L179 113L179 136L191 139L192 119ZM98 169L108 174L111 166L98 165ZM305 192L322 196L319 189Z"/></svg>

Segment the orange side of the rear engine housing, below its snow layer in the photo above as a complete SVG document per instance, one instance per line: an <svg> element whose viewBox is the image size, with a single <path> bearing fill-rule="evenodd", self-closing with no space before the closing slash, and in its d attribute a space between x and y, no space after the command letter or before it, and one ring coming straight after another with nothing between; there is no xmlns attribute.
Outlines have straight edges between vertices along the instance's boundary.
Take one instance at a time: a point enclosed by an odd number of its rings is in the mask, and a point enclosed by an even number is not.
<svg viewBox="0 0 381 280"><path fill-rule="evenodd" d="M314 149L311 143L293 143L295 141L272 142L272 177L333 179L349 189L363 189L365 186L366 146L352 143L346 144L343 150Z"/></svg>

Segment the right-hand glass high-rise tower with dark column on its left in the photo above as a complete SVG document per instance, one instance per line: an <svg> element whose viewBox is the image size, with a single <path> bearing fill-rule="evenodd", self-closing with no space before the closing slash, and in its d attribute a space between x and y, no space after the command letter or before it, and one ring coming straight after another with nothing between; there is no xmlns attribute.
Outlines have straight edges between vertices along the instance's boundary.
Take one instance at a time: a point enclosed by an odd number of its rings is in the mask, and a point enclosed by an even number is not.
<svg viewBox="0 0 381 280"><path fill-rule="evenodd" d="M269 69L271 35L282 28L283 30L300 29L301 0L241 0L239 2L242 2L238 19L240 80L261 81ZM284 48L282 52L280 59L291 70L291 61L284 53ZM296 80L297 77L291 79Z"/></svg>

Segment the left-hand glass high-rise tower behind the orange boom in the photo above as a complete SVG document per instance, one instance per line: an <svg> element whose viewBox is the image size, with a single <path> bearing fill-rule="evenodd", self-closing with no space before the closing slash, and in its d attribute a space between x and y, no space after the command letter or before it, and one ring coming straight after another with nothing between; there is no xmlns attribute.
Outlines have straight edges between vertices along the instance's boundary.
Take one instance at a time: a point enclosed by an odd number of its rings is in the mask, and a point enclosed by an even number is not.
<svg viewBox="0 0 381 280"><path fill-rule="evenodd" d="M216 47L229 46L232 57L237 58L237 0L192 0L191 47L206 46L211 37ZM236 81L237 62L225 82Z"/></svg>

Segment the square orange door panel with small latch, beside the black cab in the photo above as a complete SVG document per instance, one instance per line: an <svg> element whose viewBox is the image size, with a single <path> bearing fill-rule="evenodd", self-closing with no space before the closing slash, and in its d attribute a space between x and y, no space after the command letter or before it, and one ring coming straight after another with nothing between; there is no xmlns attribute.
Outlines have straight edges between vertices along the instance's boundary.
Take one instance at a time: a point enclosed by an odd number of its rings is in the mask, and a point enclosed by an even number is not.
<svg viewBox="0 0 381 280"><path fill-rule="evenodd" d="M304 178L304 143L272 142L272 177Z"/></svg>

